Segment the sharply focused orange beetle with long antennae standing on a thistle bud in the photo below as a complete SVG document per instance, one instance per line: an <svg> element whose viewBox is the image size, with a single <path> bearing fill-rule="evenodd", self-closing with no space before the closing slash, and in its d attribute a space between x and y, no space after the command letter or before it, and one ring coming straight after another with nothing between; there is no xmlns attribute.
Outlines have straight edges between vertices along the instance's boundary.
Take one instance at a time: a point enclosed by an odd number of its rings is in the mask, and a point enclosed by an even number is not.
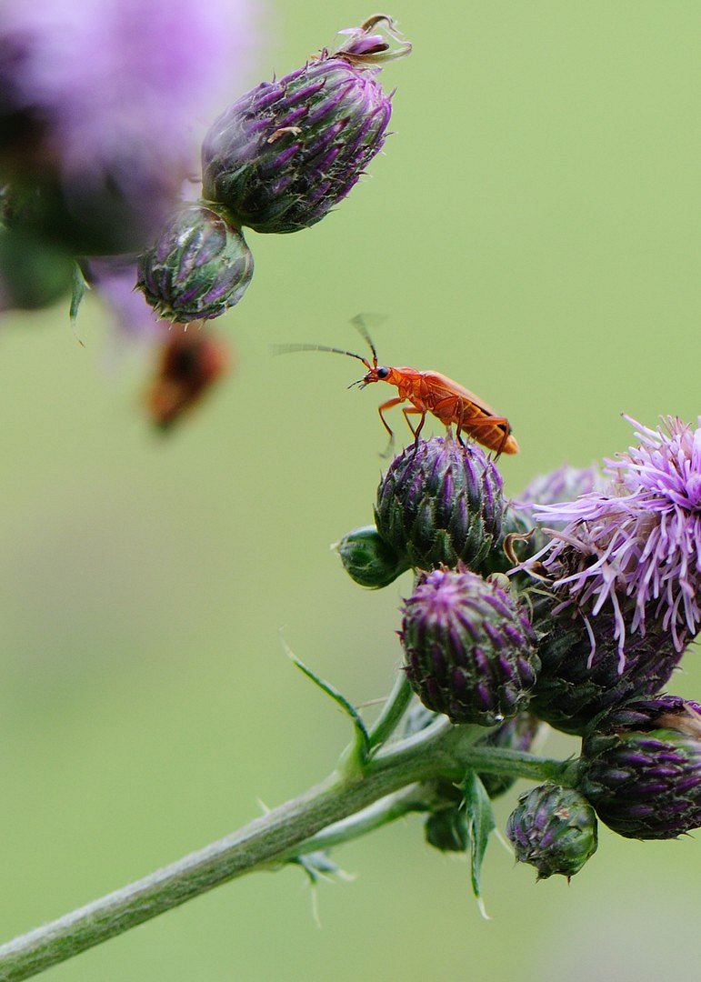
<svg viewBox="0 0 701 982"><path fill-rule="evenodd" d="M355 355L353 352L344 351L342 348L329 348L326 345L279 345L276 351L280 354L289 352L332 352L335 355L348 355L356 358L367 368L367 374L349 386L354 385L364 389L371 382L387 382L389 385L396 386L399 395L394 399L389 399L378 409L382 425L390 436L390 443L385 451L387 456L395 440L395 434L385 419L384 413L387 409L399 406L401 403L410 403L404 407L404 418L414 437L414 444L418 445L418 437L426 421L426 414L430 412L450 429L456 426L458 441L462 443L461 434L467 433L477 443L482 444L488 450L496 452L497 457L501 454L517 454L518 444L512 437L512 428L506 416L500 416L487 403L483 402L469 389L463 388L458 382L454 382L447 375L442 375L437 371L418 371L417 368L392 368L379 365L377 352L370 338L361 317L353 317L351 323L359 332L360 336L366 341L371 353L372 363L362 355ZM420 416L416 426L411 424L409 416Z"/></svg>

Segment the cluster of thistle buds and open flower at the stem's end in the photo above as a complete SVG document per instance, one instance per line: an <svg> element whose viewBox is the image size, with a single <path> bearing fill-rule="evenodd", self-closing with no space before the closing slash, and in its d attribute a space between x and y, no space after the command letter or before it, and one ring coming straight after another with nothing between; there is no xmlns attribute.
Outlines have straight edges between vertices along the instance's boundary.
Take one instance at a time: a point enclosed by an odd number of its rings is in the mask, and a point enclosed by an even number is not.
<svg viewBox="0 0 701 982"><path fill-rule="evenodd" d="M399 636L414 728L484 728L475 746L504 765L480 774L487 795L511 787L510 760L524 775L540 759L541 723L582 737L509 818L539 878L581 868L597 817L635 839L701 826L701 706L662 691L701 627L701 420L628 421L638 442L603 472L561 467L513 501L476 444L417 441L382 477L374 524L337 547L364 587L413 571ZM426 838L464 849L469 823L443 788Z"/></svg>

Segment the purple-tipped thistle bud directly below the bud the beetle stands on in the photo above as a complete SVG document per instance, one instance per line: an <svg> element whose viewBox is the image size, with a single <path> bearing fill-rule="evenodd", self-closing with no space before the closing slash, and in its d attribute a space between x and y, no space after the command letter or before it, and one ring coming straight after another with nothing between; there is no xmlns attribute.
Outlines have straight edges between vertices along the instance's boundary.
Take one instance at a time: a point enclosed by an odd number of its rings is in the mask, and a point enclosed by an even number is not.
<svg viewBox="0 0 701 982"><path fill-rule="evenodd" d="M512 598L466 570L419 577L400 633L406 676L429 709L491 727L525 708L539 668Z"/></svg>

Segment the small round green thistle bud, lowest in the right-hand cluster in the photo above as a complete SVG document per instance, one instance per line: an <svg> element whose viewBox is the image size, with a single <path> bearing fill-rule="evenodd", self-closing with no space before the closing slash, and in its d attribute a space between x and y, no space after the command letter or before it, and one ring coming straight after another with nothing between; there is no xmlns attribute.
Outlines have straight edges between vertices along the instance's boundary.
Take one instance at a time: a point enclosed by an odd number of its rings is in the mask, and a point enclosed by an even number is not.
<svg viewBox="0 0 701 982"><path fill-rule="evenodd" d="M522 794L507 823L518 862L538 870L538 879L574 876L597 847L596 815L573 788L545 784Z"/></svg>

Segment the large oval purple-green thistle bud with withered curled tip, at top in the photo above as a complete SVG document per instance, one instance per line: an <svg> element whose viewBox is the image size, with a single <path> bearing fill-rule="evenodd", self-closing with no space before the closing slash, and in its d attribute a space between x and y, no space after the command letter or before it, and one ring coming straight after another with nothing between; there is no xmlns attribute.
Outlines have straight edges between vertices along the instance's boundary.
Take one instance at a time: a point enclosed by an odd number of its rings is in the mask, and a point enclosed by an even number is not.
<svg viewBox="0 0 701 982"><path fill-rule="evenodd" d="M385 15L342 31L348 40L322 51L279 82L261 82L214 123L202 144L204 197L224 204L256 232L297 232L320 221L349 193L384 143L392 105L375 80L397 51Z"/></svg>

